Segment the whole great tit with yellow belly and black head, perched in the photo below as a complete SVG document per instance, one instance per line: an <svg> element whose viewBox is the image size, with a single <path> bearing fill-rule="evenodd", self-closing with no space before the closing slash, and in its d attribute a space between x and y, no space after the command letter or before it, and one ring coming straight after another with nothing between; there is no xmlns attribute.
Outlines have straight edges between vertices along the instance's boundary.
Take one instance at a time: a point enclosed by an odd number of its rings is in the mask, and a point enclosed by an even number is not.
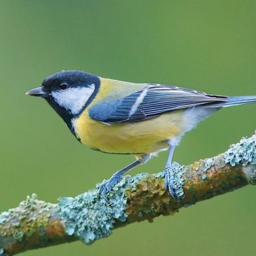
<svg viewBox="0 0 256 256"><path fill-rule="evenodd" d="M48 76L42 86L26 94L46 99L82 144L135 156L135 162L100 185L106 201L125 172L166 149L165 185L179 200L172 155L181 137L218 109L256 102L256 96L218 96L178 86L104 79L76 70Z"/></svg>

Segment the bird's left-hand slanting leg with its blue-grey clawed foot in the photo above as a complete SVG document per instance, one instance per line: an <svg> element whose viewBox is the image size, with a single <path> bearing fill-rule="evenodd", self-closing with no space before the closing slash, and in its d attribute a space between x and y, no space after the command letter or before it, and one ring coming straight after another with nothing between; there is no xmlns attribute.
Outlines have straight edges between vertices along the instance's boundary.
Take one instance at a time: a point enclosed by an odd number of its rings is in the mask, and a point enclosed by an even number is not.
<svg viewBox="0 0 256 256"><path fill-rule="evenodd" d="M109 180L106 180L100 184L99 193L101 193L102 197L105 199L107 203L109 203L109 200L107 199L106 195L108 192L111 191L111 189L122 180L122 175L125 174L125 172L130 171L132 168L138 166L139 164L146 163L147 160L150 158L149 154L142 155L142 158L137 159L133 163L129 164L129 166L126 166L122 168L121 170L115 172L112 177L110 177Z"/></svg>

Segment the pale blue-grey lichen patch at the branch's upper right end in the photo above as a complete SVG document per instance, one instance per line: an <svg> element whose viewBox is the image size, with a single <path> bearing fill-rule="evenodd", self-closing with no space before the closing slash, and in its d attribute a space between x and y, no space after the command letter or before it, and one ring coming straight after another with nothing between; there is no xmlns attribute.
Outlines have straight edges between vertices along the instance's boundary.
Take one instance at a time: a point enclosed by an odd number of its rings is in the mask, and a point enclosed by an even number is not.
<svg viewBox="0 0 256 256"><path fill-rule="evenodd" d="M250 138L242 138L237 144L232 144L229 150L225 152L224 160L225 163L232 166L256 164L256 134Z"/></svg>

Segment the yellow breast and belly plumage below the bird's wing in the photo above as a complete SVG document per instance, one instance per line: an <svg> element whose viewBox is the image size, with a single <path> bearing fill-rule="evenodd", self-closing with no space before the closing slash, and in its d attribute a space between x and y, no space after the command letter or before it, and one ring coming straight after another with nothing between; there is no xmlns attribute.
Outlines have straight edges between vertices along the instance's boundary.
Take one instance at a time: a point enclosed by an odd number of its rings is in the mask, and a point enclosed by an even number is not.
<svg viewBox="0 0 256 256"><path fill-rule="evenodd" d="M106 125L84 112L73 119L75 134L82 144L103 152L136 154L167 148L167 140L180 135L183 117L179 112L162 114L140 122Z"/></svg>

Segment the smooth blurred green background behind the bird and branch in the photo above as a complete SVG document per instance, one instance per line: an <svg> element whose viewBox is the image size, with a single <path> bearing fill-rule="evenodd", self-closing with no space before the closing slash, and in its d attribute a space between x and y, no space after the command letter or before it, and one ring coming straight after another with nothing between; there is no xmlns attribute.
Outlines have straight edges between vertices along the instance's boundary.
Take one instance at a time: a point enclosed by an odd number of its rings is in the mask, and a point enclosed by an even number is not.
<svg viewBox="0 0 256 256"><path fill-rule="evenodd" d="M0 210L27 195L76 196L133 160L78 143L38 98L44 77L81 69L224 95L256 94L255 1L0 2ZM174 159L190 164L225 151L256 129L256 105L221 110L188 133ZM163 170L167 152L138 172ZM255 187L81 242L22 255L256 255ZM20 254L21 255L21 254Z"/></svg>

